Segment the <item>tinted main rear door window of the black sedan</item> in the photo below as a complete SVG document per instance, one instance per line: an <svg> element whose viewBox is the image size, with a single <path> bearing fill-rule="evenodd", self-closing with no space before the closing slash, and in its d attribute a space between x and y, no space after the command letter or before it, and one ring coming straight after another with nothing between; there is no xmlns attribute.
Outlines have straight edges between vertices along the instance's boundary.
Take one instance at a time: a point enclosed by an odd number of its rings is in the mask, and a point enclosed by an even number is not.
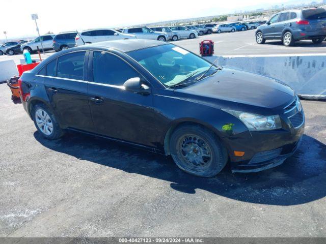
<svg viewBox="0 0 326 244"><path fill-rule="evenodd" d="M85 52L73 52L58 58L58 77L83 80Z"/></svg>

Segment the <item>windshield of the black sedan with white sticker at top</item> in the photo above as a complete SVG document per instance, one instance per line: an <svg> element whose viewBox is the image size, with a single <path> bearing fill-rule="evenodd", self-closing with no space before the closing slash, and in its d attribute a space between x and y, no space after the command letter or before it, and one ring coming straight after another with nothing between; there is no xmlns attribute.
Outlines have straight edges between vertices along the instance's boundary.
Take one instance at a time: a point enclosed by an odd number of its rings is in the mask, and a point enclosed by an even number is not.
<svg viewBox="0 0 326 244"><path fill-rule="evenodd" d="M166 86L197 76L211 66L205 59L172 44L135 50L128 55Z"/></svg>

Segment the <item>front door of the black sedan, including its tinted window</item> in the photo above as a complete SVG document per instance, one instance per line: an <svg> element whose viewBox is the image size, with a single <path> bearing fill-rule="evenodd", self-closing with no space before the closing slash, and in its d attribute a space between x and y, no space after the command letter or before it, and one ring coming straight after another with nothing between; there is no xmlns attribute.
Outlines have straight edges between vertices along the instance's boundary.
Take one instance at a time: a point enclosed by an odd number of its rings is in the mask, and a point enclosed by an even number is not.
<svg viewBox="0 0 326 244"><path fill-rule="evenodd" d="M153 146L152 95L132 93L123 86L128 79L141 77L140 73L121 57L104 51L93 52L89 73L89 104L96 133Z"/></svg>

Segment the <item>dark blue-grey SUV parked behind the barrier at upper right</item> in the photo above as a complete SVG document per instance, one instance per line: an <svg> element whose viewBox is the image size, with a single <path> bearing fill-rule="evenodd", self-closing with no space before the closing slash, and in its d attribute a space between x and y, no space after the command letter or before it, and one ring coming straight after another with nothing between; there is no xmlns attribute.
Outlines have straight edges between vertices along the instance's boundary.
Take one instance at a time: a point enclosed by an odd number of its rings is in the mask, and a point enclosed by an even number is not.
<svg viewBox="0 0 326 244"><path fill-rule="evenodd" d="M282 11L256 31L256 42L280 39L284 46L291 46L295 41L312 40L321 43L326 37L326 10L308 8Z"/></svg>

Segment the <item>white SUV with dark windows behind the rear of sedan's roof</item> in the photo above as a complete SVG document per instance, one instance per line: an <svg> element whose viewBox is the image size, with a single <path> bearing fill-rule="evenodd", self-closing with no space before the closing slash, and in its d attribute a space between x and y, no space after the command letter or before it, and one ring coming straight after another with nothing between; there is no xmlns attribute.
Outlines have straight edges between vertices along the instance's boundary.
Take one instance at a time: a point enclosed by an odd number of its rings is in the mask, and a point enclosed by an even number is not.
<svg viewBox="0 0 326 244"><path fill-rule="evenodd" d="M81 38L80 38L81 37ZM117 32L115 29L89 29L78 33L75 37L76 46L94 42L113 41L121 39L135 39L134 35L127 35Z"/></svg>

